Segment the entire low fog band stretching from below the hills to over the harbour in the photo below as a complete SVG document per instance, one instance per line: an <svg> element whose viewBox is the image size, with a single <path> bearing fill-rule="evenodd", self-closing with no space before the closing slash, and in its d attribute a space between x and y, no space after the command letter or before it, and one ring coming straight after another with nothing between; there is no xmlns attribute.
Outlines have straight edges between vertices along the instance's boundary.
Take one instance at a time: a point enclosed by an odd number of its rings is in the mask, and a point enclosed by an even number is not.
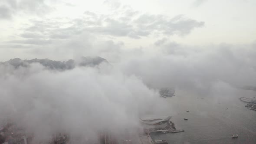
<svg viewBox="0 0 256 144"><path fill-rule="evenodd" d="M82 137L80 142L97 141L104 130L113 134L135 131L143 115L174 113L159 97L159 88L173 87L191 97L214 97L232 96L244 86L255 86L253 47L219 45L213 50L167 45L142 49L138 55L127 52L113 65L102 62L66 70L37 62L26 67L2 64L1 119L22 126L36 142L49 141L60 131Z"/></svg>

